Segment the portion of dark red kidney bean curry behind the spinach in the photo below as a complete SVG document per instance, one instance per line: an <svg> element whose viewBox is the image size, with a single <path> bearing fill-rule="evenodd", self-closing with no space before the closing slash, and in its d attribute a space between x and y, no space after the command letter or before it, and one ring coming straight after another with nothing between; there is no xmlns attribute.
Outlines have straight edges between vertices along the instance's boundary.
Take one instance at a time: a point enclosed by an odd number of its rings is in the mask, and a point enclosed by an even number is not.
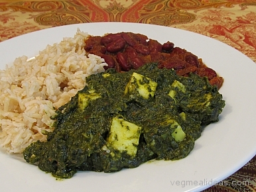
<svg viewBox="0 0 256 192"><path fill-rule="evenodd" d="M187 76L189 73L196 73L206 76L211 85L216 85L219 89L224 82L222 77L191 52L175 47L170 41L160 44L144 34L119 32L105 36L90 36L86 40L84 49L88 54L96 54L103 58L108 64L104 67L105 70L115 68L117 72L126 72L155 62L159 64L159 68L176 70L178 75Z"/></svg>

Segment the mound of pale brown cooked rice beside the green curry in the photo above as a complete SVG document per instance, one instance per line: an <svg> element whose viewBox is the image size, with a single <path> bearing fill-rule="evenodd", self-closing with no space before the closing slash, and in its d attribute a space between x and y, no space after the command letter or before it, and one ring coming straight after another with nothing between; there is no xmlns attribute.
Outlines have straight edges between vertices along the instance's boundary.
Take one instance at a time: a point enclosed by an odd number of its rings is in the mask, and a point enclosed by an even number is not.
<svg viewBox="0 0 256 192"><path fill-rule="evenodd" d="M42 130L52 130L58 108L86 85L86 77L103 72L107 64L98 56L86 56L88 33L78 29L74 38L48 45L38 56L17 58L0 70L0 145L9 153L21 153Z"/></svg>

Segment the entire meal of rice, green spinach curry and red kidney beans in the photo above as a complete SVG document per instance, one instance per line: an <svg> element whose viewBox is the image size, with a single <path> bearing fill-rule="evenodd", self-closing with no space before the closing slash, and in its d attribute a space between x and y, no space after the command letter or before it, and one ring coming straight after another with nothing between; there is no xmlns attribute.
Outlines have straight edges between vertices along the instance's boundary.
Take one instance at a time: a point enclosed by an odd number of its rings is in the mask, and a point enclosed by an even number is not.
<svg viewBox="0 0 256 192"><path fill-rule="evenodd" d="M123 34L145 39L117 36ZM223 78L170 42L163 50L144 45L152 48L145 54L136 48L145 44L140 38L123 37L120 48L121 38L99 45L103 37L92 40L78 30L34 60L18 58L1 71L3 148L60 178L188 156L202 126L222 113ZM132 48L137 54L130 57Z"/></svg>

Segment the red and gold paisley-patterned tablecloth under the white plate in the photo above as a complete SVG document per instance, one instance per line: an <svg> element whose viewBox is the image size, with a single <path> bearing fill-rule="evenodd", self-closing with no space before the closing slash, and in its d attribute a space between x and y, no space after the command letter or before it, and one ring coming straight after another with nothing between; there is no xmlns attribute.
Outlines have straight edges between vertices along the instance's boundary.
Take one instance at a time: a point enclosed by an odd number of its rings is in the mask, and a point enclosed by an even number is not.
<svg viewBox="0 0 256 192"><path fill-rule="evenodd" d="M233 46L256 62L255 0L0 0L0 42L43 28L102 21L198 32ZM256 191L256 157L204 191Z"/></svg>

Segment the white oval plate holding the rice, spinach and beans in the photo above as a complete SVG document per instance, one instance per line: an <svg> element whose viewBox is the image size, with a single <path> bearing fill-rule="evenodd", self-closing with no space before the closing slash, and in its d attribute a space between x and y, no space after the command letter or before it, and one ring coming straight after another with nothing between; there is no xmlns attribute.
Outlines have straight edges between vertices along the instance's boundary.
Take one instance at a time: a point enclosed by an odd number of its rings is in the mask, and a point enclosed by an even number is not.
<svg viewBox="0 0 256 192"><path fill-rule="evenodd" d="M56 181L23 159L0 152L1 191L200 191L228 177L256 154L256 64L226 44L200 34L151 24L86 23L39 30L0 43L0 68L18 56L36 56L47 44L73 37L77 28L93 35L138 32L203 58L225 79L226 106L220 121L207 126L188 157L149 162L117 173L81 171Z"/></svg>

